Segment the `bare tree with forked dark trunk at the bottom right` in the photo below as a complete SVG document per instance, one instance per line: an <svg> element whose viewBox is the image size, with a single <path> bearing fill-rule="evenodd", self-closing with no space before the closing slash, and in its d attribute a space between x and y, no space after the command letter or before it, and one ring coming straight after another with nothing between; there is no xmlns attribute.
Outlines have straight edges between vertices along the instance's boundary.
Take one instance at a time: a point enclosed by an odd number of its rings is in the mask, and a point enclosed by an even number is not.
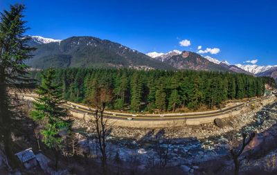
<svg viewBox="0 0 277 175"><path fill-rule="evenodd" d="M240 155L244 151L244 148L249 145L251 140L255 137L255 133L242 133L242 145L241 147L233 147L234 142L236 142L236 138L234 133L229 133L229 151L231 154L231 158L233 159L233 163L235 165L234 174L238 175L240 171ZM248 137L248 138L247 138Z"/></svg>

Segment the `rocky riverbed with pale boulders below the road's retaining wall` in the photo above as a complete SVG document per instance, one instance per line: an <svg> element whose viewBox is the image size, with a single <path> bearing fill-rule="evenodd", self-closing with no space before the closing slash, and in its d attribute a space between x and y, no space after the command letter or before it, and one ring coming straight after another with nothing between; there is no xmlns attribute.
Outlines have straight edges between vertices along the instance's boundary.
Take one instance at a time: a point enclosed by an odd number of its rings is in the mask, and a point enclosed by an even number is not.
<svg viewBox="0 0 277 175"><path fill-rule="evenodd" d="M257 136L262 138L263 132L276 125L276 121L277 103L274 103L259 111L254 109L241 116L226 118L222 120L222 127L217 127L214 123L177 127L169 146L168 166L180 166L184 171L193 173L199 168L199 163L229 154L230 133L236 140L240 140L242 132L253 131L260 133ZM75 120L73 127L88 133L93 132L91 123L84 120ZM112 127L107 138L109 156L112 158L118 152L125 162L132 162L136 158L141 168L147 168L159 162L157 144L166 147L164 138L167 134L162 129Z"/></svg>

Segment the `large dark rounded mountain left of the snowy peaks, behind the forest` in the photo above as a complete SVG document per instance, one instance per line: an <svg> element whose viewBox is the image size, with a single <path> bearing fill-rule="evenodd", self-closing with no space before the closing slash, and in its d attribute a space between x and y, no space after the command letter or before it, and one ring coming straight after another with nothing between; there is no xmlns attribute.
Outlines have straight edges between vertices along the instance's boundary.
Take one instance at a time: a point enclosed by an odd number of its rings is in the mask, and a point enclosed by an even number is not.
<svg viewBox="0 0 277 175"><path fill-rule="evenodd" d="M34 57L27 62L33 68L174 69L136 50L96 37L70 37L60 42L37 44L35 47Z"/></svg>

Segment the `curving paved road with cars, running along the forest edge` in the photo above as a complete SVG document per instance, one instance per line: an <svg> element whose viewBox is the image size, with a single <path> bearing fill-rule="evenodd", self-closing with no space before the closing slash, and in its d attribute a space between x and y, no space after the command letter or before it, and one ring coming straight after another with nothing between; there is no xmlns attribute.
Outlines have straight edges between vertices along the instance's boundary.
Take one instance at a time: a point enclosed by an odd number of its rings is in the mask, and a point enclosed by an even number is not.
<svg viewBox="0 0 277 175"><path fill-rule="evenodd" d="M37 95L34 94L25 94L24 97L28 98L37 98ZM164 114L131 114L131 113L116 113L111 111L105 111L104 116L107 118L113 118L116 120L127 120L128 118L132 120L179 120L179 119L186 119L186 118L208 118L212 116L220 116L222 113L229 113L233 110L240 110L242 107L246 105L251 105L256 102L260 102L267 97L263 98L256 98L254 100L243 102L241 104L235 105L233 107L228 107L224 109L220 109L217 111L206 111L206 112L198 112L198 113L164 113ZM66 109L70 111L75 111L78 113L85 113L85 114L93 114L93 109L86 107L81 104L76 104L73 102L66 102L63 104Z"/></svg>

